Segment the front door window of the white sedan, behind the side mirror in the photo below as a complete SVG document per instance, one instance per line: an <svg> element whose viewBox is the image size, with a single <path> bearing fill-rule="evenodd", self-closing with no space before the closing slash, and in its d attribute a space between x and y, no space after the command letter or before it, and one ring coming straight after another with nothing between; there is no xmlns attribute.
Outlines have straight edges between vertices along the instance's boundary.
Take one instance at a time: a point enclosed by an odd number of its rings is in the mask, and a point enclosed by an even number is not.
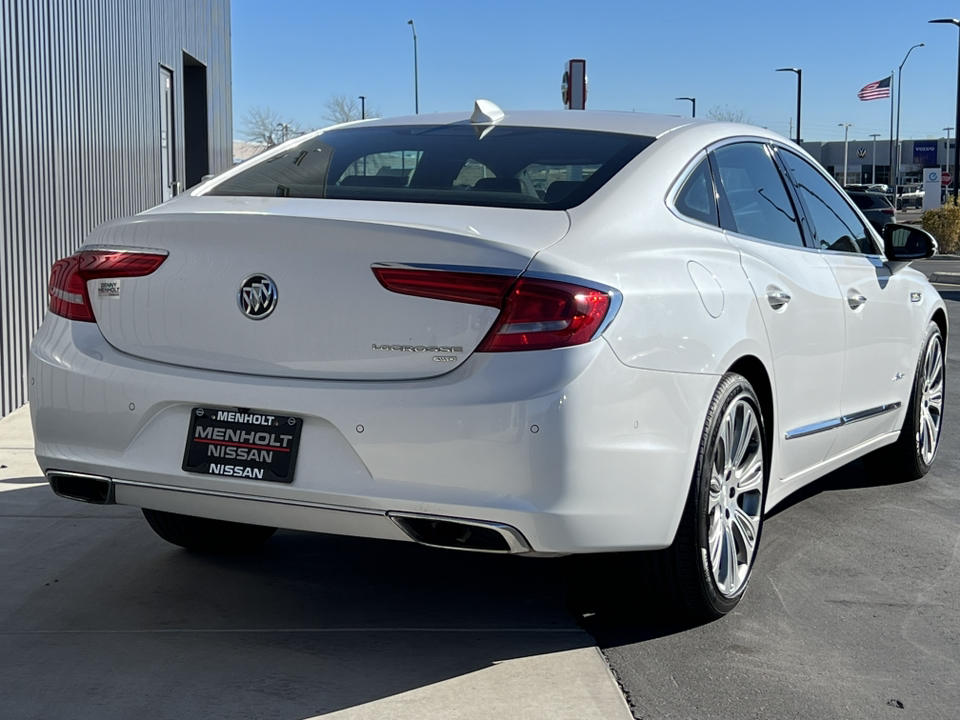
<svg viewBox="0 0 960 720"><path fill-rule="evenodd" d="M782 151L780 156L793 175L807 207L818 247L836 252L876 254L870 233L843 193L800 156L787 151Z"/></svg>

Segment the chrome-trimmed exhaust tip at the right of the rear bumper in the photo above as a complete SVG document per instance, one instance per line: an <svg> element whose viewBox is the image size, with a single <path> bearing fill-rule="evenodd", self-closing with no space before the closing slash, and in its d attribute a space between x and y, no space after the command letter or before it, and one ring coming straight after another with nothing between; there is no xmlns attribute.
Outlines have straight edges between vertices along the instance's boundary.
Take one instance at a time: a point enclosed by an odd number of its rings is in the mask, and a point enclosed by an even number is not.
<svg viewBox="0 0 960 720"><path fill-rule="evenodd" d="M519 530L503 523L403 512L387 517L421 545L501 555L533 551Z"/></svg>

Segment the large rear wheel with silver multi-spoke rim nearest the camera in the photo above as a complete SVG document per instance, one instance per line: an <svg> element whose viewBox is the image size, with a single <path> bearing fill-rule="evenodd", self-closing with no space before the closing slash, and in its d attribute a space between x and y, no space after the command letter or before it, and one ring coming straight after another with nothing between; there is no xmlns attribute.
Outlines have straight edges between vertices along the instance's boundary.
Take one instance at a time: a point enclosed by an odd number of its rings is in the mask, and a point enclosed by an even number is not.
<svg viewBox="0 0 960 720"><path fill-rule="evenodd" d="M763 528L768 458L757 395L745 377L727 373L707 412L673 544L637 556L649 583L693 619L722 617L743 597Z"/></svg>

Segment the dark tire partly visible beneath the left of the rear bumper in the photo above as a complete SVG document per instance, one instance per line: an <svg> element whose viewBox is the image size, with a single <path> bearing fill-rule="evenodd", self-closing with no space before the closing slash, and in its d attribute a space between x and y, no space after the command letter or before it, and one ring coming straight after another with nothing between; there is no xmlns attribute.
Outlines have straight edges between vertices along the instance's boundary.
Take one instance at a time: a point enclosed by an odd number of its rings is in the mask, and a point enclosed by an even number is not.
<svg viewBox="0 0 960 720"><path fill-rule="evenodd" d="M153 531L167 542L198 552L252 552L277 531L276 528L178 515L147 508L143 508L143 516Z"/></svg>

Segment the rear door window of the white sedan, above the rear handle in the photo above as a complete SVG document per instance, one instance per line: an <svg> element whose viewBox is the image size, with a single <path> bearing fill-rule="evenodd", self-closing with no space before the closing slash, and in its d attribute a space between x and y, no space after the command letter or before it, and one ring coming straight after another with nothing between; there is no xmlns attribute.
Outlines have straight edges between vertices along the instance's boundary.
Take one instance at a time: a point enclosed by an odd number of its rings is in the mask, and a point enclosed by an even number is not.
<svg viewBox="0 0 960 720"><path fill-rule="evenodd" d="M730 208L721 218L724 230L803 247L796 210L765 145L726 145L713 158L722 200Z"/></svg>

